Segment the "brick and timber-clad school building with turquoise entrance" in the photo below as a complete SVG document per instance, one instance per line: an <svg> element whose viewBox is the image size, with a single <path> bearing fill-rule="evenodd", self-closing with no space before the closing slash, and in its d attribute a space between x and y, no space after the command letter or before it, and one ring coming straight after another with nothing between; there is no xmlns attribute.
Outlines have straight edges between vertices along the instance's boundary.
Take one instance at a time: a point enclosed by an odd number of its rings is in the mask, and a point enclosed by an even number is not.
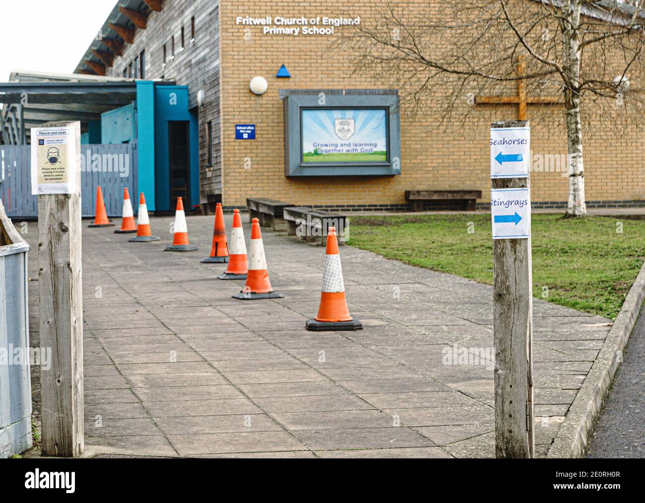
<svg viewBox="0 0 645 503"><path fill-rule="evenodd" d="M138 189L153 211L172 211L180 195L204 213L216 202L244 207L252 196L401 211L410 208L408 190L481 191L477 206L486 207L488 125L517 119L518 106L464 99L464 115L474 107L484 120L441 128L432 104L406 114L399 90L355 73L352 48L334 44L375 15L369 1L121 0L74 73L134 81L135 96L82 121L84 141L137 143ZM565 207L564 128L541 127L538 109L562 114L558 104L528 105L531 199ZM588 205L645 206L640 135L584 133L583 141Z"/></svg>

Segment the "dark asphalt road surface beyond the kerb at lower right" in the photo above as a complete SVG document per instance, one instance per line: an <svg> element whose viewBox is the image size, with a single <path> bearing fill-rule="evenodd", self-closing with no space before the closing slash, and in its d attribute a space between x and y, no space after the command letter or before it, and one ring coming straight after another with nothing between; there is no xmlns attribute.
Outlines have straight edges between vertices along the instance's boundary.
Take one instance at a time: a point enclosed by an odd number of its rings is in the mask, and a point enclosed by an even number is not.
<svg viewBox="0 0 645 503"><path fill-rule="evenodd" d="M645 457L645 307L640 310L587 457Z"/></svg>

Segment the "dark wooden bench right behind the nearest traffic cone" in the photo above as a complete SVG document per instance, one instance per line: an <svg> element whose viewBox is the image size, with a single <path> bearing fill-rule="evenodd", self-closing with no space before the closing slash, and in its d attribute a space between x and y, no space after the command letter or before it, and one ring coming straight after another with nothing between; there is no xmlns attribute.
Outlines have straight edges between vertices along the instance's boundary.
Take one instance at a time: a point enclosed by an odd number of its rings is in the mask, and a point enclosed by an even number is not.
<svg viewBox="0 0 645 503"><path fill-rule="evenodd" d="M344 245L347 237L347 217L344 214L308 206L284 208L283 214L289 236L298 236L302 241L326 245L329 228L336 227L338 243Z"/></svg>

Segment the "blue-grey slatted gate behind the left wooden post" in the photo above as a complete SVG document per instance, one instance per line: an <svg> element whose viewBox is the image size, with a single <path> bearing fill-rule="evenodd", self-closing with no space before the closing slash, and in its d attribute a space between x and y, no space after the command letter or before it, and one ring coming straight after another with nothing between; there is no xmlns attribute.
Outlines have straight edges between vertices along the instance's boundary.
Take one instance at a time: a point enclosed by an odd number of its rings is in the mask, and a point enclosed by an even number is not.
<svg viewBox="0 0 645 503"><path fill-rule="evenodd" d="M0 145L0 200L9 218L36 218L38 214L38 196L32 196L30 149L29 145ZM81 145L83 216L94 216L97 185L101 185L109 216L121 216L124 187L130 191L136 213L137 166L137 142Z"/></svg>

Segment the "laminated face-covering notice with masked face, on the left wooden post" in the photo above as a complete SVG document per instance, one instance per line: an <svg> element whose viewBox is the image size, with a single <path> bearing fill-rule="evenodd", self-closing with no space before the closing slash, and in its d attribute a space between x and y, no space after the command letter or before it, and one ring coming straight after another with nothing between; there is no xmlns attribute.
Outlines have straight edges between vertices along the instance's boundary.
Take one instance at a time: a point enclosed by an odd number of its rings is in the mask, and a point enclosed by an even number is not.
<svg viewBox="0 0 645 503"><path fill-rule="evenodd" d="M75 194L76 131L32 128L32 194Z"/></svg>

